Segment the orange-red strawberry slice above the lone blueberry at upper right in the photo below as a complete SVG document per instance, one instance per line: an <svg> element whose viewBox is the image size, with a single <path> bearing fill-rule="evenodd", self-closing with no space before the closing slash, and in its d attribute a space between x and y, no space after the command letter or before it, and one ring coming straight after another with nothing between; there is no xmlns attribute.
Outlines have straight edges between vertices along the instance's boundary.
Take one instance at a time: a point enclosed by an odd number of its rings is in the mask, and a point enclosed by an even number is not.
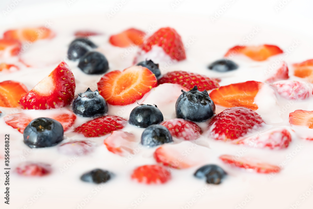
<svg viewBox="0 0 313 209"><path fill-rule="evenodd" d="M224 56L228 57L230 55L244 54L252 60L264 61L271 56L282 53L283 50L281 50L278 46L264 44L260 46L234 46L229 49Z"/></svg>

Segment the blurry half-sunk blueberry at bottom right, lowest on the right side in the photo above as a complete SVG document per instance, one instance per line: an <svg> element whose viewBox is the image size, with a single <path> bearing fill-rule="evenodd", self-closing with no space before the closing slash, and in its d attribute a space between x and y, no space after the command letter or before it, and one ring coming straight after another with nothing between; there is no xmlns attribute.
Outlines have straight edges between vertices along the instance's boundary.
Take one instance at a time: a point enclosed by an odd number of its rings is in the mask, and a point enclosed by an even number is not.
<svg viewBox="0 0 313 209"><path fill-rule="evenodd" d="M220 184L227 173L218 165L204 165L199 168L194 176L199 179L207 179L208 184Z"/></svg>

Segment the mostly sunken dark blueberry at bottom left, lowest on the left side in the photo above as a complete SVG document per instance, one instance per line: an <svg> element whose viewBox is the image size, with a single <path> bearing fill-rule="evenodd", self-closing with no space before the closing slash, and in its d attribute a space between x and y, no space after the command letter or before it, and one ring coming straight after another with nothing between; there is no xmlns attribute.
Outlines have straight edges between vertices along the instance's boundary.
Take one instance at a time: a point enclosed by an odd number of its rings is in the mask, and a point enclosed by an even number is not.
<svg viewBox="0 0 313 209"><path fill-rule="evenodd" d="M100 184L100 183L105 183L108 180L110 180L112 175L113 174L107 170L94 169L83 174L80 177L80 180Z"/></svg>

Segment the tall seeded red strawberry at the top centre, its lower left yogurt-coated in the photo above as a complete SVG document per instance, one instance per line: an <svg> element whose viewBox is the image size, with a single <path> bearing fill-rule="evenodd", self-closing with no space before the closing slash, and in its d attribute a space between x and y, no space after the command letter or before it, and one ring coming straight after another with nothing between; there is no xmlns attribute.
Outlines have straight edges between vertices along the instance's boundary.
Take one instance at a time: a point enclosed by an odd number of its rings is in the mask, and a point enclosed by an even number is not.
<svg viewBox="0 0 313 209"><path fill-rule="evenodd" d="M180 35L173 28L161 28L145 40L141 46L142 50L148 52L156 45L162 47L164 52L169 55L172 60L185 60L186 54L184 44Z"/></svg>

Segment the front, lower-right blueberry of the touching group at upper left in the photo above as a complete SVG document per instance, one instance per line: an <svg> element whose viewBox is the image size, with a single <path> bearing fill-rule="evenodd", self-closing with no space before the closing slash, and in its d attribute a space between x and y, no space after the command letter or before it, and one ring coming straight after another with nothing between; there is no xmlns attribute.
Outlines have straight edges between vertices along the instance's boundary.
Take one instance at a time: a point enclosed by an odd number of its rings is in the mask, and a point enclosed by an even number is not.
<svg viewBox="0 0 313 209"><path fill-rule="evenodd" d="M103 74L109 69L109 63L100 52L89 51L80 58L78 67L87 74Z"/></svg>

